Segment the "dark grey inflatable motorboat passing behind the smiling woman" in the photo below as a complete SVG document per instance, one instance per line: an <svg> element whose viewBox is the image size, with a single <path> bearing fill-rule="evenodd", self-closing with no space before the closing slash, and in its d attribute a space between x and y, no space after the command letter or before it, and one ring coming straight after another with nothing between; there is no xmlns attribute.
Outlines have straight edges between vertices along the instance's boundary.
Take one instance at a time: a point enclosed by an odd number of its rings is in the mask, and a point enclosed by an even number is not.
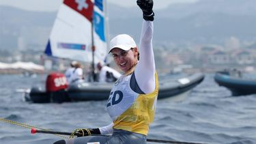
<svg viewBox="0 0 256 144"><path fill-rule="evenodd" d="M203 78L204 74L201 73L160 78L158 99L182 100L186 98L186 93L203 81ZM113 83L83 82L55 92L47 92L44 87L33 87L26 91L25 100L35 103L107 100L111 87Z"/></svg>

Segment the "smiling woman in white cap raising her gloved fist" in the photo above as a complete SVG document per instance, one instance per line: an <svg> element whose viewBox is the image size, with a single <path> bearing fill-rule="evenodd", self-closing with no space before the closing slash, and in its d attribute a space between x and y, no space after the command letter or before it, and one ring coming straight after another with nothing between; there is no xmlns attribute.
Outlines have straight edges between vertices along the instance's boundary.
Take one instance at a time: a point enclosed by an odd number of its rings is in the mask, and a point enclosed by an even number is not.
<svg viewBox="0 0 256 144"><path fill-rule="evenodd" d="M147 133L154 119L158 96L158 76L152 48L153 1L137 0L137 5L143 11L144 19L140 49L138 50L130 35L126 34L117 35L110 42L109 53L124 72L113 85L106 104L113 121L100 128L74 130L73 133L79 137L57 141L54 144L147 143Z"/></svg>

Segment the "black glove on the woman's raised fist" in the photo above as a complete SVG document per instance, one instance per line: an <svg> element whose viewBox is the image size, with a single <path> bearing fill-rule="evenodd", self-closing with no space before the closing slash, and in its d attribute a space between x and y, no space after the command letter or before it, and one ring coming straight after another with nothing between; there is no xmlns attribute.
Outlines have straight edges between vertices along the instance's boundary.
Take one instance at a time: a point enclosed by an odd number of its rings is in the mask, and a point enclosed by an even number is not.
<svg viewBox="0 0 256 144"><path fill-rule="evenodd" d="M137 5L141 8L145 20L154 20L153 0L137 0Z"/></svg>

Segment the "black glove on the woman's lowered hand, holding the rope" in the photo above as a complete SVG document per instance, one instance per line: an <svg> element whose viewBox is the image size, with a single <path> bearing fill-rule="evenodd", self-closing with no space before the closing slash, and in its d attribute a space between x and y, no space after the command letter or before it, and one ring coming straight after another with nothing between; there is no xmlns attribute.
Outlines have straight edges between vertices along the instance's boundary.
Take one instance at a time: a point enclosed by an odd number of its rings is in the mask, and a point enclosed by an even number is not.
<svg viewBox="0 0 256 144"><path fill-rule="evenodd" d="M94 134L100 134L100 129L98 128L79 128L76 129L72 132L71 136L77 136L77 137L81 137L81 136L91 136Z"/></svg>

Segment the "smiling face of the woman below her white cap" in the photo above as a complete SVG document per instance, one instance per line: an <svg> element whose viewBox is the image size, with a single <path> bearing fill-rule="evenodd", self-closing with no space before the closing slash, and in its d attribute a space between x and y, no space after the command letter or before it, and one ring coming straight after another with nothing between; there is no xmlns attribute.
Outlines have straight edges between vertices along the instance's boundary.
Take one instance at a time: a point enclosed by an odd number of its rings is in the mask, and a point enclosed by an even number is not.
<svg viewBox="0 0 256 144"><path fill-rule="evenodd" d="M117 66L125 73L138 62L137 48L131 48L128 51L124 51L120 48L113 48L111 53Z"/></svg>

